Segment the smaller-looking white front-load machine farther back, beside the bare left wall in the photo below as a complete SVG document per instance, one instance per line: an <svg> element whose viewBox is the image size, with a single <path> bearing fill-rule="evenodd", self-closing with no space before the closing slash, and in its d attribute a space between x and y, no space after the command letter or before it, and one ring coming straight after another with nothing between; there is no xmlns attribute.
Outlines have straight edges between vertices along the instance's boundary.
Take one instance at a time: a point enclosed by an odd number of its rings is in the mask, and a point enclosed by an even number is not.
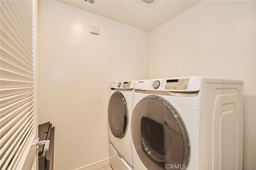
<svg viewBox="0 0 256 170"><path fill-rule="evenodd" d="M108 103L108 125L110 136L110 165L114 167L126 166L131 169L132 163L132 135L131 115L135 81L113 82L110 89ZM116 168L118 169L118 168ZM124 169L124 168L122 168Z"/></svg>

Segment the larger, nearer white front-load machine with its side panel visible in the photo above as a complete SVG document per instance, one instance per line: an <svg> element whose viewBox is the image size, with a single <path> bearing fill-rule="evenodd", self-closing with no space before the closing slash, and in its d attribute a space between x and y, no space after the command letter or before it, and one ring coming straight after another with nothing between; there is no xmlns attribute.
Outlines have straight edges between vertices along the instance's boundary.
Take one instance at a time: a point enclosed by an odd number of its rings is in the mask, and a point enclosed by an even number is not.
<svg viewBox="0 0 256 170"><path fill-rule="evenodd" d="M134 170L242 169L243 81L164 78L134 89Z"/></svg>

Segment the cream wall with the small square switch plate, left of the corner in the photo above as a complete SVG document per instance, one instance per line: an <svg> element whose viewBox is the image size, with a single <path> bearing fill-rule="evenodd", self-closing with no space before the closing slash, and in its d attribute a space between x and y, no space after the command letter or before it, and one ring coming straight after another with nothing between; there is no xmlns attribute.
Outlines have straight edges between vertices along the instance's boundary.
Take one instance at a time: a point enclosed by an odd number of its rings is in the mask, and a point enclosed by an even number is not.
<svg viewBox="0 0 256 170"><path fill-rule="evenodd" d="M100 35L90 34L90 25ZM57 1L38 2L39 124L56 127L54 169L108 160L110 83L148 78L148 34Z"/></svg>

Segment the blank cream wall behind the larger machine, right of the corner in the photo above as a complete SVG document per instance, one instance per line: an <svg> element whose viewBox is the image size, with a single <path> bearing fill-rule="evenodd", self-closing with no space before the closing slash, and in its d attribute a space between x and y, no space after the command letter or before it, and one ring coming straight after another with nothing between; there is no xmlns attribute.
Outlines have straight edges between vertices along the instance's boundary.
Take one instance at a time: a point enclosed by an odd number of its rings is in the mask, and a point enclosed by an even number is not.
<svg viewBox="0 0 256 170"><path fill-rule="evenodd" d="M150 32L150 78L244 80L243 169L256 169L255 1L202 1Z"/></svg>

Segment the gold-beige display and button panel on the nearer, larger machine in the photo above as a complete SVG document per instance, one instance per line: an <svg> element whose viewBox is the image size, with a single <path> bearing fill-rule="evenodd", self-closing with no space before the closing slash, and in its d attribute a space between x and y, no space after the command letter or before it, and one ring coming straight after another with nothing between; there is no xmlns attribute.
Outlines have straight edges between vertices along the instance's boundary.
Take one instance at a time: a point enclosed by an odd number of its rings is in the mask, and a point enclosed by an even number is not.
<svg viewBox="0 0 256 170"><path fill-rule="evenodd" d="M189 78L166 80L164 90L187 90Z"/></svg>

